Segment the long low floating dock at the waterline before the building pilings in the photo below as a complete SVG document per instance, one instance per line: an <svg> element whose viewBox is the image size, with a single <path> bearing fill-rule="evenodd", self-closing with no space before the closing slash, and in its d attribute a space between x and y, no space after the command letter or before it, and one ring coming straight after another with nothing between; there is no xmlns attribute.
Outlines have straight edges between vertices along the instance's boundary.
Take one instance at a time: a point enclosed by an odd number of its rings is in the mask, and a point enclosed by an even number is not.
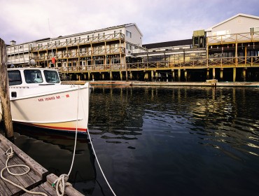
<svg viewBox="0 0 259 196"><path fill-rule="evenodd" d="M218 82L216 85L214 83L206 82L144 82L144 81L120 81L120 80L69 80L62 81L62 84L80 84L89 82L92 86L116 86L116 85L125 85L125 86L197 86L197 87L259 87L259 82Z"/></svg>

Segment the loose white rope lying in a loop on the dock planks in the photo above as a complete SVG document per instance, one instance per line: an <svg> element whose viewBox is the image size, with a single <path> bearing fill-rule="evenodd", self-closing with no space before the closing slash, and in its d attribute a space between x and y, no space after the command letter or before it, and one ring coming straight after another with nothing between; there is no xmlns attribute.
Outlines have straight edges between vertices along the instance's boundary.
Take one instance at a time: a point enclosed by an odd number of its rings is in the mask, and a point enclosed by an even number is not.
<svg viewBox="0 0 259 196"><path fill-rule="evenodd" d="M10 152L9 152L9 150L10 150ZM1 179L3 179L4 181L7 181L8 183L11 183L13 186L18 187L18 188L24 190L24 191L27 192L27 193L34 194L34 195L44 195L44 196L48 196L48 195L46 195L45 193L34 192L34 191L27 190L26 188L23 188L22 186L19 186L18 184L14 183L13 181L10 181L10 180L8 180L8 179L6 179L6 178L3 177L3 171L4 171L5 169L7 169L7 172L8 172L10 175L13 175L13 176L22 176L22 175L25 175L25 174L27 174L27 173L29 172L29 170L30 170L30 168L29 168L27 165L9 165L9 166L8 166L8 160L13 157L13 154L14 154L13 148L12 148L12 147L8 148L8 150L6 151L6 155L7 155L6 167L4 167L4 168L1 170ZM14 174L13 172L10 172L10 170L9 170L10 167L26 167L26 168L27 168L27 172L24 172L24 173L21 173L21 174Z"/></svg>

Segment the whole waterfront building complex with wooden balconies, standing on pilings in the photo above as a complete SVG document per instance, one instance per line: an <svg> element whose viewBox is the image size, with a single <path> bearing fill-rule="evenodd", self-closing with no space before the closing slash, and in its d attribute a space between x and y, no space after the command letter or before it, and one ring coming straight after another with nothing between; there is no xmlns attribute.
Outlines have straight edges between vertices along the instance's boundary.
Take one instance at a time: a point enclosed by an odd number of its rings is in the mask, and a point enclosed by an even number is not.
<svg viewBox="0 0 259 196"><path fill-rule="evenodd" d="M53 67L76 80L259 80L257 16L237 14L186 40L142 45L142 37L132 23L11 44L8 63Z"/></svg>

